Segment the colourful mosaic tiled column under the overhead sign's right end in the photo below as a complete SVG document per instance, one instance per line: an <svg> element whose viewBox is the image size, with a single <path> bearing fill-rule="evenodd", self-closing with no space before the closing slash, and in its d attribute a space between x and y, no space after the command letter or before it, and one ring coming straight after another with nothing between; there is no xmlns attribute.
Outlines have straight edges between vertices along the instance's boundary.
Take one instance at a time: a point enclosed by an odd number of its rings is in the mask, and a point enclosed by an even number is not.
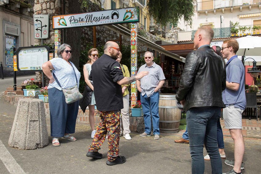
<svg viewBox="0 0 261 174"><path fill-rule="evenodd" d="M137 74L137 23L131 23L131 76ZM137 104L136 82L131 83L131 108Z"/></svg>

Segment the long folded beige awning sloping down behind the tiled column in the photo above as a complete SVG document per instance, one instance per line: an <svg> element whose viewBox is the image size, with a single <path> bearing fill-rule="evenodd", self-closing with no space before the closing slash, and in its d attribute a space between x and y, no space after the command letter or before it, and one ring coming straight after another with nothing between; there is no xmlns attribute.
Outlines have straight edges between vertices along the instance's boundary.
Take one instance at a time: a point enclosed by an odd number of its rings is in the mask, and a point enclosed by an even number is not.
<svg viewBox="0 0 261 174"><path fill-rule="evenodd" d="M115 31L116 33L119 33L123 36L125 36L126 38L131 38L131 31L124 27L124 26L121 26L120 24L115 24L115 25L104 25L106 28L112 30L112 31ZM142 45L142 46L145 46L145 47L148 47L150 49L153 49L157 52L160 52L161 54L164 54L166 56L169 56L173 59L176 59L178 61L181 61L183 63L185 63L185 58L184 57L181 57L179 55L176 55L174 53L171 53L169 51L166 51L163 47L157 45L156 43L153 43L145 38L143 38L142 36L138 35L138 44Z"/></svg>

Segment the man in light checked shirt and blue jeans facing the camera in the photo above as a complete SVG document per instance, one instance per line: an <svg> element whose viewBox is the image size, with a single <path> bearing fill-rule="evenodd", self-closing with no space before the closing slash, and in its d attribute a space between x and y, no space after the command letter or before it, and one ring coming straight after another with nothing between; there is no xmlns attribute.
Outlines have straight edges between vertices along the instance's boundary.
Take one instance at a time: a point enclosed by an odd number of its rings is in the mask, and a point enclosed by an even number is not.
<svg viewBox="0 0 261 174"><path fill-rule="evenodd" d="M149 71L149 75L136 80L138 91L141 92L141 105L143 110L145 132L140 136L150 136L151 134L151 117L153 125L154 139L160 139L159 129L159 91L164 84L165 76L159 65L153 62L153 54L145 52L144 59L146 64L142 65L137 74L142 71Z"/></svg>

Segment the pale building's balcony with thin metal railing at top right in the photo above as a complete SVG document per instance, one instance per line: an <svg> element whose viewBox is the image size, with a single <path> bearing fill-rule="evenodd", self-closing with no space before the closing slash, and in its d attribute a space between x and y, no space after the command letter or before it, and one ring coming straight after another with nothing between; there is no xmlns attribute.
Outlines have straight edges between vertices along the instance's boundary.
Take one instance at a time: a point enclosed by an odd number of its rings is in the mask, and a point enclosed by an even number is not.
<svg viewBox="0 0 261 174"><path fill-rule="evenodd" d="M197 11L261 4L261 0L210 0L197 2Z"/></svg>

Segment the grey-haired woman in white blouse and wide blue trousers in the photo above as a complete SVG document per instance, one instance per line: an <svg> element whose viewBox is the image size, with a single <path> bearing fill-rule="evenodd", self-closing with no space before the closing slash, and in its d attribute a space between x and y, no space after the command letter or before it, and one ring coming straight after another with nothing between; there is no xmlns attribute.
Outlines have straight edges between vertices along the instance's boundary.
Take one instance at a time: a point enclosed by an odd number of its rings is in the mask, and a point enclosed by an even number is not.
<svg viewBox="0 0 261 174"><path fill-rule="evenodd" d="M76 141L70 134L75 133L75 124L79 110L79 101L67 104L62 89L79 88L80 72L69 61L71 58L71 46L64 43L57 50L57 58L43 63L44 74L50 79L48 85L49 110L51 118L52 144L60 146L59 138ZM52 72L50 71L52 70Z"/></svg>

